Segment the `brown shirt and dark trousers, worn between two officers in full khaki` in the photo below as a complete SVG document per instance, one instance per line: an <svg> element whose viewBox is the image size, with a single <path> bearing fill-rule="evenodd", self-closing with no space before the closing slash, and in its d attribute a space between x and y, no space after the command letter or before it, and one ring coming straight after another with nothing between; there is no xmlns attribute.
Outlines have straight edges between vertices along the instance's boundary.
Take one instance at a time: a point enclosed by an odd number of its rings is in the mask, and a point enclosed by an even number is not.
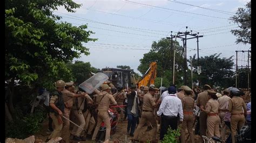
<svg viewBox="0 0 256 143"><path fill-rule="evenodd" d="M197 97L197 106L203 105L205 108L206 103L210 99L210 96L208 96L207 90L201 92L198 94ZM200 111L200 116L199 116L199 123L200 123L200 135L205 135L206 136L206 128L207 128L207 113Z"/></svg>

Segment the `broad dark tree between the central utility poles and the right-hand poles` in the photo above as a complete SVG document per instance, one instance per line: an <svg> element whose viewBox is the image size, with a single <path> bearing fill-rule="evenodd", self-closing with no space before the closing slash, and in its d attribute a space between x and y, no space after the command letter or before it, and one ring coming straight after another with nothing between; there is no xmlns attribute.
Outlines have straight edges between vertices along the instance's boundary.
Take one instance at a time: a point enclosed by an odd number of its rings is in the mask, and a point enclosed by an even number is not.
<svg viewBox="0 0 256 143"><path fill-rule="evenodd" d="M197 73L198 62L195 57L196 55L193 56L192 64L194 67L193 72ZM233 86L234 71L232 67L234 62L232 61L232 56L230 58L220 58L220 54L213 54L201 57L199 61L201 66L201 74L199 75L200 85L209 84L214 87L225 88Z"/></svg>

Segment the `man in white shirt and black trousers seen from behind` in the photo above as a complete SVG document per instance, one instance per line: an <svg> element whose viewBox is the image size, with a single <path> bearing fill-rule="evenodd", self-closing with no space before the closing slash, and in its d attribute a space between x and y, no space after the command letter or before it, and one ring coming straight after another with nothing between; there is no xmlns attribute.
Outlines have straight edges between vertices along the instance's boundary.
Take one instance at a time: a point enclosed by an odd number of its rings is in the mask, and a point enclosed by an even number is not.
<svg viewBox="0 0 256 143"><path fill-rule="evenodd" d="M178 113L180 121L183 121L183 109L181 100L176 96L176 88L171 86L168 88L169 96L163 98L160 108L157 112L161 116L160 140L163 140L169 126L172 130L177 130Z"/></svg>

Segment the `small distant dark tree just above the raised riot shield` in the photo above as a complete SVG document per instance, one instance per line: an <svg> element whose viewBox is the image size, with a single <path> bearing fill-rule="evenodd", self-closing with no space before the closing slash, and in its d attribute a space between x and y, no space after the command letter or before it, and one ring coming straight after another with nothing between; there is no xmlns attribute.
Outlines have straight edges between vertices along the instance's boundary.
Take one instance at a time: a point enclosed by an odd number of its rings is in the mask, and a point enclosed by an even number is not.
<svg viewBox="0 0 256 143"><path fill-rule="evenodd" d="M97 69L91 67L90 62L75 61L75 63L67 63L67 66L71 69L72 75L75 77L76 85L81 84L88 78L90 78L91 72L96 73Z"/></svg>

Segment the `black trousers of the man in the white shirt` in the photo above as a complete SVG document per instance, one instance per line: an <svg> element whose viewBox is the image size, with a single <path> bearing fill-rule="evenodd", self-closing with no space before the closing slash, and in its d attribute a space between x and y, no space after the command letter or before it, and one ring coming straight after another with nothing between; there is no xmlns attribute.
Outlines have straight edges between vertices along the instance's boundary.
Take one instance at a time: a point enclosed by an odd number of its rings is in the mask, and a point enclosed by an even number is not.
<svg viewBox="0 0 256 143"><path fill-rule="evenodd" d="M161 129L160 129L160 140L164 139L164 135L167 134L168 128L177 130L178 117L175 116L161 116Z"/></svg>

